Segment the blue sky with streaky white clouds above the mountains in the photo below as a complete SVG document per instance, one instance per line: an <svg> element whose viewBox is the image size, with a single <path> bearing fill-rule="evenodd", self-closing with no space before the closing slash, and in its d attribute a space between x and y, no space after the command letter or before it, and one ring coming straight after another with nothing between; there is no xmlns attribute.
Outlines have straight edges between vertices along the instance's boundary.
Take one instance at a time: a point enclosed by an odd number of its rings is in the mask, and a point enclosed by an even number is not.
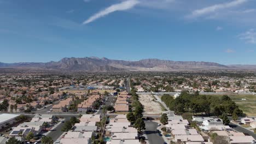
<svg viewBox="0 0 256 144"><path fill-rule="evenodd" d="M0 62L256 64L254 0L0 0Z"/></svg>

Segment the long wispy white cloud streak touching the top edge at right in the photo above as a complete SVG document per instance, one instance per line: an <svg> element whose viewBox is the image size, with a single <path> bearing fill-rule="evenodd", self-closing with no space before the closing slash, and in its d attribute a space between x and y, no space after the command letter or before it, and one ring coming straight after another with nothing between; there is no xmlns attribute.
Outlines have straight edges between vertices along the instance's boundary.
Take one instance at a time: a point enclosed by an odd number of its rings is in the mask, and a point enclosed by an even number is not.
<svg viewBox="0 0 256 144"><path fill-rule="evenodd" d="M238 5L241 5L241 4L246 3L246 2L248 2L248 0L235 0L235 1L232 1L232 2L228 2L228 3L211 5L210 7L205 7L205 8L202 8L202 9L194 10L192 12L192 14L190 14L188 17L189 18L199 17L199 16L202 16L202 15L217 12L218 10L237 7Z"/></svg>

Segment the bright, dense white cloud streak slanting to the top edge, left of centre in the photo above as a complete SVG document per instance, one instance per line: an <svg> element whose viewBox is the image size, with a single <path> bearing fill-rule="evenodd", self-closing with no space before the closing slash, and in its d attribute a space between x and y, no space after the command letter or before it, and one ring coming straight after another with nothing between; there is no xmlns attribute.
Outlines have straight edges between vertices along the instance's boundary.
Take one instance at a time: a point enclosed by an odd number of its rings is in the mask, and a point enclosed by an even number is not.
<svg viewBox="0 0 256 144"><path fill-rule="evenodd" d="M129 1L124 1L124 2L118 3L118 4L113 4L110 7L106 8L104 10L101 10L98 13L92 15L91 17L89 17L88 20L84 21L83 24L87 24L92 21L95 21L95 20L99 19L100 17L106 16L115 11L131 9L131 8L135 7L135 5L138 3L139 3L139 1L129 0Z"/></svg>

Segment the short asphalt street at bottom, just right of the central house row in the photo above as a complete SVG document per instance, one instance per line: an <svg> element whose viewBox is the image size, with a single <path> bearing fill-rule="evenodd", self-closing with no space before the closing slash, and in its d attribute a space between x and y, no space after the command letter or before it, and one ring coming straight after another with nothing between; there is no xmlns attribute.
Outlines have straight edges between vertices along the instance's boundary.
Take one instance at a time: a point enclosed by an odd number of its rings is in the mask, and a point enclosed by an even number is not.
<svg viewBox="0 0 256 144"><path fill-rule="evenodd" d="M144 131L144 134L148 136L149 144L155 144L155 143L162 144L165 142L162 136L159 136L158 133L156 132L158 123L145 121L145 124L146 124L146 130Z"/></svg>

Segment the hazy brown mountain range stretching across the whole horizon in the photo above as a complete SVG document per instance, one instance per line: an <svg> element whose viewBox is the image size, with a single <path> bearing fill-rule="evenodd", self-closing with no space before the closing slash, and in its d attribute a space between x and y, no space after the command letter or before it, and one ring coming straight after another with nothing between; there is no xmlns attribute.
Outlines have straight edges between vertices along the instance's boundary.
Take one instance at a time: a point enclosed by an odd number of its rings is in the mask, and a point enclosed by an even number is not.
<svg viewBox="0 0 256 144"><path fill-rule="evenodd" d="M177 70L210 70L210 69L256 69L256 65L223 65L213 62L183 62L161 59L142 59L123 61L108 58L84 57L62 58L58 62L46 63L1 63L0 68L40 68L68 71L177 71Z"/></svg>

